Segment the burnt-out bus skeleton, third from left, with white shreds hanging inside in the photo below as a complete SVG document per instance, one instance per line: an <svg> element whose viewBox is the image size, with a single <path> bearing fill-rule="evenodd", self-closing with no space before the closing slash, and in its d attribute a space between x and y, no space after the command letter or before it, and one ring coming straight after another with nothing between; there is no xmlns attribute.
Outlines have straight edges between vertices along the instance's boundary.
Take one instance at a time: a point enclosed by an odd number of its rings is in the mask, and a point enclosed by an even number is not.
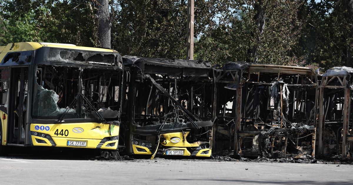
<svg viewBox="0 0 353 185"><path fill-rule="evenodd" d="M318 80L306 67L226 63L217 75L218 150L235 156L312 158Z"/></svg>

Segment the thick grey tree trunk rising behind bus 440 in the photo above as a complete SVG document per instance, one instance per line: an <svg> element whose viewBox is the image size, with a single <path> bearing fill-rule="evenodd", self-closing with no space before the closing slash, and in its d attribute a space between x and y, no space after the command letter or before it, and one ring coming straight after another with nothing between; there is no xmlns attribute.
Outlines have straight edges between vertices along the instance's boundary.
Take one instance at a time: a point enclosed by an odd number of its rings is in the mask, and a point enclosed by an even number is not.
<svg viewBox="0 0 353 185"><path fill-rule="evenodd" d="M97 0L97 20L98 20L98 41L100 47L110 48L110 27L109 1Z"/></svg>

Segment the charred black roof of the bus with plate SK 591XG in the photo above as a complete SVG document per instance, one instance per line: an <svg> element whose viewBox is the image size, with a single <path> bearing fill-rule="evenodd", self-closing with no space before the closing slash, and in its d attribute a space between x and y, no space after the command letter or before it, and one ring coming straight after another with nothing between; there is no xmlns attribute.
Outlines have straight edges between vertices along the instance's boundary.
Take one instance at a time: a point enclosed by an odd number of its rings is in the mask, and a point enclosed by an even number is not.
<svg viewBox="0 0 353 185"><path fill-rule="evenodd" d="M125 55L124 66L136 65L144 74L166 74L171 76L208 76L209 62L170 58L145 58Z"/></svg>

